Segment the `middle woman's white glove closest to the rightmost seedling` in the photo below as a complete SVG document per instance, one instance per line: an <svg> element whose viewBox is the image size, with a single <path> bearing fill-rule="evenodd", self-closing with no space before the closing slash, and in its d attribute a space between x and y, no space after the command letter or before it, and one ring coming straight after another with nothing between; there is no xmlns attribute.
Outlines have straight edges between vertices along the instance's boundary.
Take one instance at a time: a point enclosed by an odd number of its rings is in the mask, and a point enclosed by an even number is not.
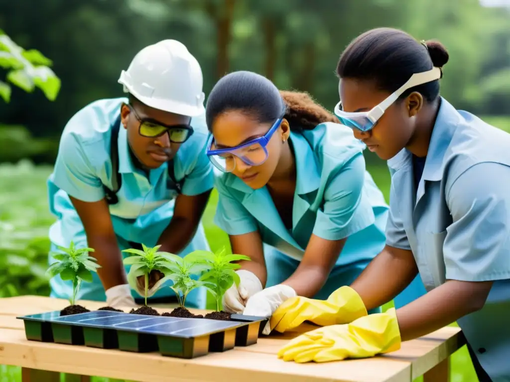
<svg viewBox="0 0 510 382"><path fill-rule="evenodd" d="M241 279L239 287L233 284L223 295L222 303L225 312L240 314L250 296L260 292L262 283L259 278L249 270L239 269L236 271Z"/></svg>

